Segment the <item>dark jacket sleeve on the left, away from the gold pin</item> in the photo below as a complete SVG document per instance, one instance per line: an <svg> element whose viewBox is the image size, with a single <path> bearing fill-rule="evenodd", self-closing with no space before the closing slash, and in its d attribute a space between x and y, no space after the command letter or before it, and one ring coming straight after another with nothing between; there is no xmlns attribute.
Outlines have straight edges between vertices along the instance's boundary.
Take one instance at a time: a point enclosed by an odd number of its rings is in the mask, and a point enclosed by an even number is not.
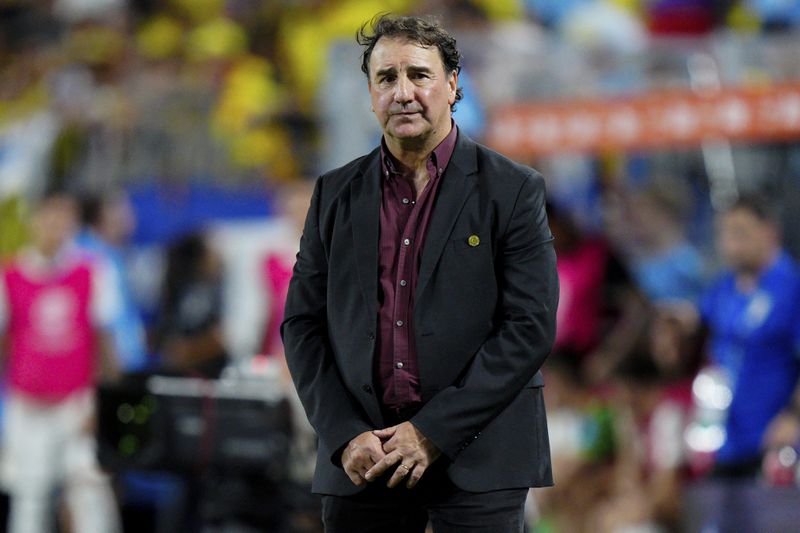
<svg viewBox="0 0 800 533"><path fill-rule="evenodd" d="M289 283L281 337L300 401L331 461L341 465L341 449L355 436L375 429L344 385L328 337L328 260L320 236L317 181L306 216L300 251Z"/></svg>

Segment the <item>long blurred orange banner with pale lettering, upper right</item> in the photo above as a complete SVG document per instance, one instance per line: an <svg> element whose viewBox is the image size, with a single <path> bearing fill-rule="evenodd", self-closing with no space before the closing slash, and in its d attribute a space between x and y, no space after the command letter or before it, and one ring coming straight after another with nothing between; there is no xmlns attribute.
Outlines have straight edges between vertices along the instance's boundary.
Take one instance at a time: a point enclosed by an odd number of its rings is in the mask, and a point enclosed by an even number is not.
<svg viewBox="0 0 800 533"><path fill-rule="evenodd" d="M518 103L495 109L487 142L512 157L800 139L800 82L651 92L617 99Z"/></svg>

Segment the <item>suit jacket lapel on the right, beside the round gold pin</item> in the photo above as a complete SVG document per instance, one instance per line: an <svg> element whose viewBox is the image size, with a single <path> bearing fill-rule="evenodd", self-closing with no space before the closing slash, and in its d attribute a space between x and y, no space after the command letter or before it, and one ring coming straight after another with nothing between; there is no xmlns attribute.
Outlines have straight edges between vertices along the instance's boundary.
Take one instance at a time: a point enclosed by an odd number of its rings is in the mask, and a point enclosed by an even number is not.
<svg viewBox="0 0 800 533"><path fill-rule="evenodd" d="M417 279L416 301L419 301L425 291L433 269L442 255L444 245L450 239L453 226L461 213L464 202L472 188L477 185L475 172L477 172L475 143L463 133L458 132L455 150L447 165L447 170L441 177L442 183L439 185L439 194L436 197L428 234L425 237L425 248L422 250L422 263Z"/></svg>

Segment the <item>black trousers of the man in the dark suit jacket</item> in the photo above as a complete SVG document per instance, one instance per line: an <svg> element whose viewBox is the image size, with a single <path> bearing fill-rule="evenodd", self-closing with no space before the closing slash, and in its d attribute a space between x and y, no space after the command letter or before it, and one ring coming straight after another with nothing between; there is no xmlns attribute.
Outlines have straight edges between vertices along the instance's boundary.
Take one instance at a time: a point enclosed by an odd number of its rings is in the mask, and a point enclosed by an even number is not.
<svg viewBox="0 0 800 533"><path fill-rule="evenodd" d="M354 496L323 496L325 533L522 533L528 489L467 492L435 462L416 487L386 487L393 468Z"/></svg>

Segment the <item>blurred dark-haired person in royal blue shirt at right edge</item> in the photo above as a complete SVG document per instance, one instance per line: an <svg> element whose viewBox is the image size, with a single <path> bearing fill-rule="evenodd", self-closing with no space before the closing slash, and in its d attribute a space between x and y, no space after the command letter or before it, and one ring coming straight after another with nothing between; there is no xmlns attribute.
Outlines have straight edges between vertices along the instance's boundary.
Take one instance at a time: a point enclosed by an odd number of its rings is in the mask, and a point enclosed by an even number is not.
<svg viewBox="0 0 800 533"><path fill-rule="evenodd" d="M700 317L732 399L714 473L750 477L759 472L765 446L779 428L796 419L800 271L783 250L776 219L762 198L741 197L718 222L718 247L728 270L702 298Z"/></svg>

